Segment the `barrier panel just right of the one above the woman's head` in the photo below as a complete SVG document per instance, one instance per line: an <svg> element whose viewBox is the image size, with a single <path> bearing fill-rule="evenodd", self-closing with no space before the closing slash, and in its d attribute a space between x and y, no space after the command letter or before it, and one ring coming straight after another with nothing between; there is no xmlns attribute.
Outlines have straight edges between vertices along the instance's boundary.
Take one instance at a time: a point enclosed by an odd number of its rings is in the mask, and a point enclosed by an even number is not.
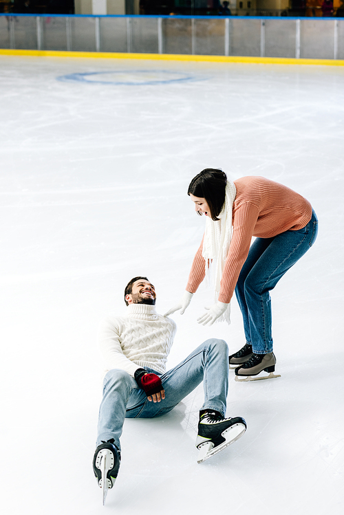
<svg viewBox="0 0 344 515"><path fill-rule="evenodd" d="M229 55L260 56L261 21L258 19L230 19Z"/></svg>

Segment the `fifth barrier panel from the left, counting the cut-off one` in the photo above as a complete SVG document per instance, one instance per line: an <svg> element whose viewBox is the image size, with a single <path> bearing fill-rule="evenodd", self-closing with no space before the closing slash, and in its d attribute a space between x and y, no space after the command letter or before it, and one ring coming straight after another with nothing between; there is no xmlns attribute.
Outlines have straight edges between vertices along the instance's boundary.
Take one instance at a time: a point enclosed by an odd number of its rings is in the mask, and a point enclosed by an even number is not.
<svg viewBox="0 0 344 515"><path fill-rule="evenodd" d="M100 22L100 52L128 52L127 18L105 18Z"/></svg>

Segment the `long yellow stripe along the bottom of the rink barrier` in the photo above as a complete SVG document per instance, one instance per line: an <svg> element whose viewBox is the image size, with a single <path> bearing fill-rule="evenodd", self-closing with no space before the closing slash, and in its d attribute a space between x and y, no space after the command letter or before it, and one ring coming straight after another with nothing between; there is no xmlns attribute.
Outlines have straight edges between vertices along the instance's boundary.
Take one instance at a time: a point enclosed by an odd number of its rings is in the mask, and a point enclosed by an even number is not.
<svg viewBox="0 0 344 515"><path fill-rule="evenodd" d="M0 49L3 56L87 57L103 59L155 59L156 61L208 61L211 63L258 63L275 65L344 66L343 59L296 59L289 57L195 56L189 54L129 54L126 52L67 52L60 50Z"/></svg>

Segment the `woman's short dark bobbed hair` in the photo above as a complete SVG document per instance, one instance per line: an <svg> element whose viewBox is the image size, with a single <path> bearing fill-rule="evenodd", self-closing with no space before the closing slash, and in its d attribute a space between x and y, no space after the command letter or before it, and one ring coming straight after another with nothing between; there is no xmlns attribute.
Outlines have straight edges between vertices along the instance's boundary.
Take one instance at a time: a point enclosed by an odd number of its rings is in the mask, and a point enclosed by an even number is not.
<svg viewBox="0 0 344 515"><path fill-rule="evenodd" d="M224 206L224 199L226 195L227 176L222 170L216 168L205 168L201 173L193 177L188 195L194 195L206 199L206 203L211 210L211 218L217 218ZM201 213L197 211L200 215Z"/></svg>

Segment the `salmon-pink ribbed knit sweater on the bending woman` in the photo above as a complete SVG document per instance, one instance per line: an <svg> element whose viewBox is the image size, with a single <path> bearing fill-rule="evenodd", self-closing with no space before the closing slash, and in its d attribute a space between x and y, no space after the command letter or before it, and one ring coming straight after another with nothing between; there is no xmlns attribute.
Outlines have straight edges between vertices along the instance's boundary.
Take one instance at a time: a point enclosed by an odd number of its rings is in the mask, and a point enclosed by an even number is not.
<svg viewBox="0 0 344 515"><path fill-rule="evenodd" d="M271 238L286 230L299 230L312 218L312 206L290 188L264 177L241 177L234 182L233 237L222 274L219 301L229 303L244 265L252 236ZM203 240L195 254L186 285L195 293L205 276Z"/></svg>

